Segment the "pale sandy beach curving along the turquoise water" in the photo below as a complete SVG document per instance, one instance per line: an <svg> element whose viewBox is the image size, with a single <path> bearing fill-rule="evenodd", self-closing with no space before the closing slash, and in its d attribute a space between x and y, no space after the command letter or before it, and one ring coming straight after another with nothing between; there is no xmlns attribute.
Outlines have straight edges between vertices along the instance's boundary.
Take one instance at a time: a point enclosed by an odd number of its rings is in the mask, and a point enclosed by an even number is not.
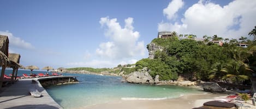
<svg viewBox="0 0 256 109"><path fill-rule="evenodd" d="M228 94L213 94L213 93L202 93L202 94L193 94L193 95L184 95L180 98L175 99L166 99L166 100L120 100L117 102L111 102L108 104L99 104L88 107L83 107L86 109L170 109L170 108L179 108L179 109L189 109L194 107L203 106L204 102L211 101L215 98L227 97ZM256 108L252 105L252 101L248 100L247 106L251 108Z"/></svg>

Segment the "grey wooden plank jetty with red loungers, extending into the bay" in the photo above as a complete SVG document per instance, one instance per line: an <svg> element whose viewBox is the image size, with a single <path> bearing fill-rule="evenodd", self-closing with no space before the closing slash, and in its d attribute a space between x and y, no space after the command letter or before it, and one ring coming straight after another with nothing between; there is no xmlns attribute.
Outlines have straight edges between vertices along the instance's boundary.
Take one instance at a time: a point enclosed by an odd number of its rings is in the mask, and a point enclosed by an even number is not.
<svg viewBox="0 0 256 109"><path fill-rule="evenodd" d="M47 85L61 85L78 82L75 76L48 76L42 78L20 79L9 87L1 88L0 108L49 108L62 107L47 93L41 83ZM29 91L37 89L42 97L34 98Z"/></svg>

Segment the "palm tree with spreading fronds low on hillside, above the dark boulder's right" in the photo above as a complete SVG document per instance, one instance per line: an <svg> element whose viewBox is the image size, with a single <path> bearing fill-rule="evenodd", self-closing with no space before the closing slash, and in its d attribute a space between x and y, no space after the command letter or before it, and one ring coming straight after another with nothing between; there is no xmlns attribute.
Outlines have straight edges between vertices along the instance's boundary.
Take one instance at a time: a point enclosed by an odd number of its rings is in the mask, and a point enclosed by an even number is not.
<svg viewBox="0 0 256 109"><path fill-rule="evenodd" d="M225 72L225 78L234 79L236 84L240 84L242 80L248 80L250 73L253 72L252 69L246 63L241 61L231 60L225 68L222 69Z"/></svg>

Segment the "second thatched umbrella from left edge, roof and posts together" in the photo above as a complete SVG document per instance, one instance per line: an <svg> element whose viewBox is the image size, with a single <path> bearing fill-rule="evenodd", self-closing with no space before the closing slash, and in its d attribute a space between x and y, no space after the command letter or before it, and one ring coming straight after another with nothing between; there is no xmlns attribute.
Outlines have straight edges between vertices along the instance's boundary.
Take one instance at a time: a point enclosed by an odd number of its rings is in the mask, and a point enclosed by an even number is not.
<svg viewBox="0 0 256 109"><path fill-rule="evenodd" d="M14 73L16 71L15 74L15 80L17 79L17 73L18 73L18 69L19 67L21 67L20 63L20 54L15 54L15 53L9 53L9 63L7 65L7 67L13 68L13 74L11 75L11 82L13 83L14 80Z"/></svg>

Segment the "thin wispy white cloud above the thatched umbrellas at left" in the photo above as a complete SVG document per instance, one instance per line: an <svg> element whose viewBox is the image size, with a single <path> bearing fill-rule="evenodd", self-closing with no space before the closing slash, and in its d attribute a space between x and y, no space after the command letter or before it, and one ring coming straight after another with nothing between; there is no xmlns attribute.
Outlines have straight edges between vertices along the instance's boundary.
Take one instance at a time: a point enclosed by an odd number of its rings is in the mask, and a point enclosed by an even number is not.
<svg viewBox="0 0 256 109"><path fill-rule="evenodd" d="M20 37L14 36L9 31L0 31L0 35L8 36L10 47L21 48L21 49L33 49L34 48L31 43L28 43L28 42L22 40Z"/></svg>

